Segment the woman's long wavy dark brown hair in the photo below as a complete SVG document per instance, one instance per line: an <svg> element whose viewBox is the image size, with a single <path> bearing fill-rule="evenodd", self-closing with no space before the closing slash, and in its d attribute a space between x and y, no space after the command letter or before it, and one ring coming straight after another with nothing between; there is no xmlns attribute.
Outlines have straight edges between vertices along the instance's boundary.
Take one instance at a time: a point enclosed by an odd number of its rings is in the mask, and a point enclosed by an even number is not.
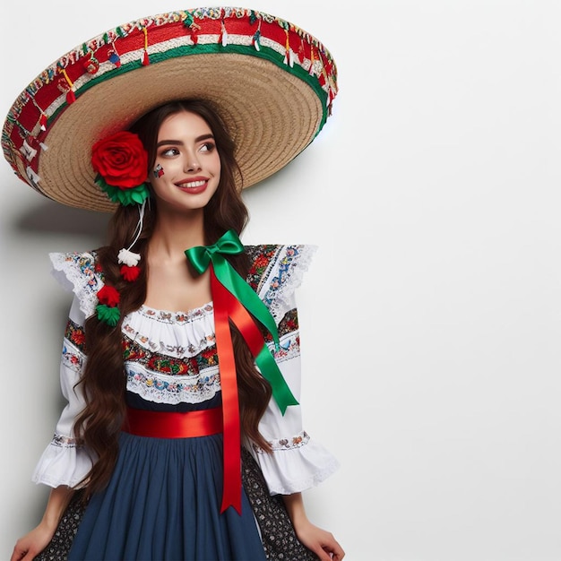
<svg viewBox="0 0 561 561"><path fill-rule="evenodd" d="M148 151L151 169L156 159L156 143L161 123L169 116L188 111L203 117L211 127L220 155L220 185L203 210L205 243L212 244L227 230L241 234L246 227L248 212L236 180L241 183L241 172L234 157L235 144L229 132L211 105L200 99L173 101L151 110L131 127ZM148 174L148 170L147 170ZM92 315L85 326L88 359L82 375L86 406L76 419L74 431L93 455L93 467L83 479L86 495L99 491L108 480L117 461L118 436L125 419L126 376L123 357L121 324L125 315L142 306L146 298L148 278L147 250L151 232L158 220L157 203L152 198L146 204L141 235L134 246L140 253L141 273L135 282L126 282L120 275L117 254L122 247L130 246L138 224L136 205L120 205L109 221L108 245L97 250L97 263L105 275L105 282L120 294L120 317L115 327L99 322ZM229 258L232 266L246 278L249 259L246 253ZM267 452L271 446L259 433L258 423L271 398L271 386L255 368L254 359L237 328L230 324L234 344L237 387L242 434Z"/></svg>

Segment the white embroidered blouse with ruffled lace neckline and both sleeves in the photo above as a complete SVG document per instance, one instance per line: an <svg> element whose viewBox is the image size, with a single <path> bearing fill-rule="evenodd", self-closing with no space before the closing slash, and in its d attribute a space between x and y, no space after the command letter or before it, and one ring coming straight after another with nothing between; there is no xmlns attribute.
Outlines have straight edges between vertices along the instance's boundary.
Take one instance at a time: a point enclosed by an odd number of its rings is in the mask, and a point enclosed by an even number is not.
<svg viewBox="0 0 561 561"><path fill-rule="evenodd" d="M247 281L263 300L279 327L280 350L273 352L289 388L300 400L300 350L295 289L315 251L314 246L246 246L252 266ZM91 456L76 444L74 419L84 406L80 385L86 362L83 327L95 313L103 286L91 253L51 254L53 274L73 291L73 304L63 341L60 381L67 400L34 471L33 480L51 487L74 486L91 469ZM142 306L127 315L122 326L127 393L133 399L169 406L202 403L220 392L214 316L210 302L187 312ZM270 349L274 351L271 346ZM280 413L269 403L259 429L272 444L264 453L246 442L259 463L272 495L311 488L332 474L337 460L302 427L300 405Z"/></svg>

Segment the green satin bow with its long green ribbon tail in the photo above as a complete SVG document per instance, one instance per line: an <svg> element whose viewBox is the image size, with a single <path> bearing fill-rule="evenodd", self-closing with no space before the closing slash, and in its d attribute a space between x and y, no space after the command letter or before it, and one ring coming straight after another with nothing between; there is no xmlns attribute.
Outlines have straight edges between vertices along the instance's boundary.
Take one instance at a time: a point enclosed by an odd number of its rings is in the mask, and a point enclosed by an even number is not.
<svg viewBox="0 0 561 561"><path fill-rule="evenodd" d="M246 280L237 273L224 257L224 255L237 255L243 251L244 246L237 237L237 233L230 229L215 244L191 247L186 250L185 254L199 274L205 272L209 264L212 263L216 278L246 307L250 314L254 315L271 332L275 348L278 350L279 332L271 312L247 284ZM263 344L262 350L255 357L255 363L271 384L272 396L283 415L289 405L298 405L298 401L290 392L289 385L266 344Z"/></svg>

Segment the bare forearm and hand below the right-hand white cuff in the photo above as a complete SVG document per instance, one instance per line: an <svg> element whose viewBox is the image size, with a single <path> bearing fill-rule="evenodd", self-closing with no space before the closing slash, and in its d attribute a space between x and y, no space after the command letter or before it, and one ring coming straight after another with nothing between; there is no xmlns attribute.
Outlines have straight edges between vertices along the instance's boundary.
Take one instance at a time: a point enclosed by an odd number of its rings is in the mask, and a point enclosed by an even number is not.
<svg viewBox="0 0 561 561"><path fill-rule="evenodd" d="M318 528L307 519L301 493L283 495L282 499L296 535L306 548L311 549L321 561L341 561L345 557L332 533Z"/></svg>

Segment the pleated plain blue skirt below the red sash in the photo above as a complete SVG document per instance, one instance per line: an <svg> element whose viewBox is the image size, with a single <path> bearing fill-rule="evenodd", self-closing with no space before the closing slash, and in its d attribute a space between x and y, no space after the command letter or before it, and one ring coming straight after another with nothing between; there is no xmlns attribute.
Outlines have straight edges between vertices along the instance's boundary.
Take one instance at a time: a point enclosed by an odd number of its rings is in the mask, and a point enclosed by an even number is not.
<svg viewBox="0 0 561 561"><path fill-rule="evenodd" d="M121 433L117 465L91 497L69 561L263 561L255 516L222 499L222 435Z"/></svg>

